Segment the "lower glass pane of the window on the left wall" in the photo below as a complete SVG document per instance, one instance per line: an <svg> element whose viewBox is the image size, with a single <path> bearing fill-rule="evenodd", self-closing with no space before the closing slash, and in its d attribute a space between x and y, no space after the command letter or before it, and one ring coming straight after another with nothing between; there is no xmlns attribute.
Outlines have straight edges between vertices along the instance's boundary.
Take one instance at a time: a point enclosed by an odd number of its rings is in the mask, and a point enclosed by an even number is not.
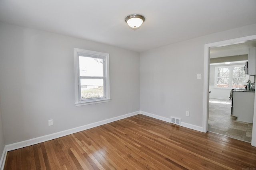
<svg viewBox="0 0 256 170"><path fill-rule="evenodd" d="M81 79L81 99L103 98L103 79Z"/></svg>

